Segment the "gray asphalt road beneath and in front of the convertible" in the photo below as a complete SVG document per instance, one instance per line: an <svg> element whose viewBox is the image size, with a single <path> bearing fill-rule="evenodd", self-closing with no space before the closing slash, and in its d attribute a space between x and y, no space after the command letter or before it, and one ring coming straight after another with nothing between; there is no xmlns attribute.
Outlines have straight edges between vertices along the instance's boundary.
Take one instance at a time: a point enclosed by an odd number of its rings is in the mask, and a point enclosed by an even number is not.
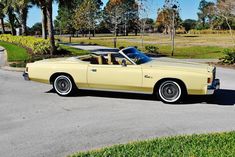
<svg viewBox="0 0 235 157"><path fill-rule="evenodd" d="M218 68L218 77L215 98L167 105L139 94L59 97L49 85L0 70L0 156L63 157L133 140L235 130L235 70Z"/></svg>

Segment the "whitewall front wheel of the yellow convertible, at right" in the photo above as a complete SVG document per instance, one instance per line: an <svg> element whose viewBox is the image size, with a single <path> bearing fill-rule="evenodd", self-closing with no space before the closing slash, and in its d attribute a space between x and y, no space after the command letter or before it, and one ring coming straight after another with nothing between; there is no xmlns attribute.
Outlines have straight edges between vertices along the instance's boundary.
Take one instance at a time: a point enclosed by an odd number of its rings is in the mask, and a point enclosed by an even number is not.
<svg viewBox="0 0 235 157"><path fill-rule="evenodd" d="M177 103L182 99L183 93L178 82L167 80L160 84L157 95L165 103Z"/></svg>

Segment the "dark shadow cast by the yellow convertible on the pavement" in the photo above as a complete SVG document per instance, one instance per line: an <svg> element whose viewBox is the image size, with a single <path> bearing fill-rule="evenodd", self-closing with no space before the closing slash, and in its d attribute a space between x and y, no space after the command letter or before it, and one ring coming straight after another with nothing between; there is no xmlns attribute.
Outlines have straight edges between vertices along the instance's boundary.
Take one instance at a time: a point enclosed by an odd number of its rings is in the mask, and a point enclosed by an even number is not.
<svg viewBox="0 0 235 157"><path fill-rule="evenodd" d="M46 93L55 93L53 89ZM82 90L72 97L102 97L102 98L118 98L118 99L133 99L133 100L147 100L157 101L156 96L150 94L136 94L136 93L122 93L122 92L107 92L107 91L90 91ZM211 96L188 96L184 102L177 105L190 105L190 104L215 104L222 106L235 105L235 90L221 89Z"/></svg>

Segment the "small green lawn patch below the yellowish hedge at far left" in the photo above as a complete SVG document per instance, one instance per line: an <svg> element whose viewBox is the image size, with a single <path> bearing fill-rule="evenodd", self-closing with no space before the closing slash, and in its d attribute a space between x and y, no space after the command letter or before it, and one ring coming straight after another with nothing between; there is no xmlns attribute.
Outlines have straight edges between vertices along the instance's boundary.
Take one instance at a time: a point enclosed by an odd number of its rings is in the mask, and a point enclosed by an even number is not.
<svg viewBox="0 0 235 157"><path fill-rule="evenodd" d="M18 62L28 60L29 55L25 48L20 46L0 41L0 46L7 50L9 62Z"/></svg>

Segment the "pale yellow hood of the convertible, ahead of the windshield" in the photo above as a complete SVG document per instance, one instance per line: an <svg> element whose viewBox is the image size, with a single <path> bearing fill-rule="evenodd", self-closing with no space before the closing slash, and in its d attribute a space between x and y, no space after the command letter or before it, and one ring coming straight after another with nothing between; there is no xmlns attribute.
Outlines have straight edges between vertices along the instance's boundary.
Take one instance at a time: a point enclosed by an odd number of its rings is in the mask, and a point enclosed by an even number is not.
<svg viewBox="0 0 235 157"><path fill-rule="evenodd" d="M144 67L157 68L161 67L163 69L174 69L182 71L198 71L198 72L211 72L214 67L208 64L185 62L179 59L153 59L152 61L144 64Z"/></svg>

